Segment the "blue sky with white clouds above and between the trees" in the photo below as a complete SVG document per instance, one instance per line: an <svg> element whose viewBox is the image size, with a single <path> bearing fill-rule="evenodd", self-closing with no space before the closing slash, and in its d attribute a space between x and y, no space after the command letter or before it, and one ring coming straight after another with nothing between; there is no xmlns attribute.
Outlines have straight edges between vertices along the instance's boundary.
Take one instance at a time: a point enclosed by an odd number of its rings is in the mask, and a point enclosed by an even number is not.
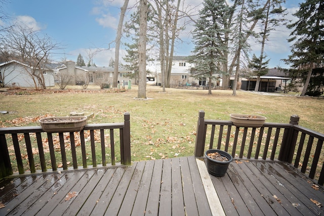
<svg viewBox="0 0 324 216"><path fill-rule="evenodd" d="M133 6L134 2L135 0L131 0L129 6ZM188 4L197 5L200 2L202 0L186 0ZM288 0L285 5L288 12L294 13L300 2L303 1ZM123 0L10 0L4 6L4 10L10 17L23 20L35 29L41 29L61 44L64 49L59 50L54 56L56 61L63 58L76 61L79 53L86 61L87 53L99 48L105 51L94 57L94 63L97 66L107 66L110 58L114 58L114 44L110 45L110 50L108 47L115 39L115 29L123 3ZM130 12L127 15L130 15ZM289 18L293 19L291 16ZM290 54L290 45L287 43L290 32L285 28L278 30L266 48L267 56L270 58L269 67L285 67L280 59L287 58ZM190 38L186 35L183 40L188 41L188 44L178 44L175 55L191 55L193 45ZM253 45L252 49L252 54L260 55L259 45ZM124 54L125 52L121 50L120 55Z"/></svg>

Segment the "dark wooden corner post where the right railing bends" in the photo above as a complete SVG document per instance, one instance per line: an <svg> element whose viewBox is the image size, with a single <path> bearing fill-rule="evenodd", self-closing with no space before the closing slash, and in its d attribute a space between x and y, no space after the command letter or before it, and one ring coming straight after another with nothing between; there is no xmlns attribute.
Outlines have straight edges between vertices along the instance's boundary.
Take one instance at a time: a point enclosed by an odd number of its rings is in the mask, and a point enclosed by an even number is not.
<svg viewBox="0 0 324 216"><path fill-rule="evenodd" d="M298 131L295 131L294 125L299 122L298 115L290 116L289 123L292 124L289 130L285 131L282 138L282 144L278 155L278 160L291 163L294 155L295 145L297 141Z"/></svg>

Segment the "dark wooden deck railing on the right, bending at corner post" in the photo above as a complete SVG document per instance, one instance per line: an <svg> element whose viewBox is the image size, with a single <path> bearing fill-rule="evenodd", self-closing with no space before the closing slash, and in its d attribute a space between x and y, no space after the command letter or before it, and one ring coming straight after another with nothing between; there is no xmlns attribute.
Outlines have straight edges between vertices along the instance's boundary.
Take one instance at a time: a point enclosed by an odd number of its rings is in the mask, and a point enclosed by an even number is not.
<svg viewBox="0 0 324 216"><path fill-rule="evenodd" d="M285 161L322 186L324 135L298 122L299 117L293 115L289 123L236 127L231 121L206 120L205 112L199 111L194 155L204 157L207 149L216 148L234 159Z"/></svg>

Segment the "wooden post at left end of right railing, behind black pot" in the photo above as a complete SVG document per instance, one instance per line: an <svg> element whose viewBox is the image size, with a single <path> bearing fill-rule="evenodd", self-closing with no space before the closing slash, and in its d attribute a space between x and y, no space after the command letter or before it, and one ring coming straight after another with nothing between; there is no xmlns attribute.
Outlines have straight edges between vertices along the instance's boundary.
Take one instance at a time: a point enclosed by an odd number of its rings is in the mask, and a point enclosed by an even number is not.
<svg viewBox="0 0 324 216"><path fill-rule="evenodd" d="M196 142L194 146L194 156L203 157L205 149L205 111L200 110L198 113L198 122L197 122L197 132L196 132Z"/></svg>

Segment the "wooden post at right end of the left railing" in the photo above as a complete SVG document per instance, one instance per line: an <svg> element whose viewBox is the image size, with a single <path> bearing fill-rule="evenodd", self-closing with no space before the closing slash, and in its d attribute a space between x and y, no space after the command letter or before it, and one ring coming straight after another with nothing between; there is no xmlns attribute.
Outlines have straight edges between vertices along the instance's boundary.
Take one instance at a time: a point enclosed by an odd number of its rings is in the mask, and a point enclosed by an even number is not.
<svg viewBox="0 0 324 216"><path fill-rule="evenodd" d="M130 113L125 112L124 114L124 128L123 128L123 154L124 164L131 165L131 124L130 124ZM121 161L123 163L123 161Z"/></svg>

